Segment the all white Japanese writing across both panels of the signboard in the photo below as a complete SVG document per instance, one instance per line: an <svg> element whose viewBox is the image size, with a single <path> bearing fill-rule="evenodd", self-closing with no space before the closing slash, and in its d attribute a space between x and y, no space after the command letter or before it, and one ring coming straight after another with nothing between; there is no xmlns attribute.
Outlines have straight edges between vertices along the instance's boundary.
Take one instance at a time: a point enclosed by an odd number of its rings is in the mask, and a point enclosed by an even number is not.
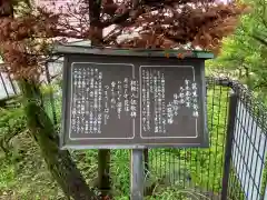
<svg viewBox="0 0 267 200"><path fill-rule="evenodd" d="M146 134L160 136L167 132L169 134L174 126L180 124L177 120L188 113L198 118L197 82L185 72L181 79L175 80L171 84L168 76L172 69L162 69L141 68L138 73L140 77L137 76L141 80L139 88L140 82L131 78L130 73L105 80L106 73L100 68L93 66L73 68L71 131L102 133L107 129L103 126L109 123L110 118L112 123L116 123L113 120L123 121L127 117L137 118L136 122L140 120L141 131Z"/></svg>

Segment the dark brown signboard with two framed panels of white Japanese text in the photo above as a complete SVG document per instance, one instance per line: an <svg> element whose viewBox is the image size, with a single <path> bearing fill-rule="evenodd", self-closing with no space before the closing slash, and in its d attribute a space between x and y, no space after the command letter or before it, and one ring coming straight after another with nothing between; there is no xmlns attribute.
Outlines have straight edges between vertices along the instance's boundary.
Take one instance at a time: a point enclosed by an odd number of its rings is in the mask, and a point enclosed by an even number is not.
<svg viewBox="0 0 267 200"><path fill-rule="evenodd" d="M204 59L65 59L62 148L208 146Z"/></svg>

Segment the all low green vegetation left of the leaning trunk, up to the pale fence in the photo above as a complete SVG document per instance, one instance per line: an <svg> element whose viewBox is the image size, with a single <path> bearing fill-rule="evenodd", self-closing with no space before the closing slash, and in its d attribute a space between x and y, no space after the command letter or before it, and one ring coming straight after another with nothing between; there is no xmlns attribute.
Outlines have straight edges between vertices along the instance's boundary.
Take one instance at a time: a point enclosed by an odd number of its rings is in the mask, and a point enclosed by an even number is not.
<svg viewBox="0 0 267 200"><path fill-rule="evenodd" d="M55 187L49 171L41 160L37 146L27 131L26 118L22 107L0 110L0 199L36 199L42 192L49 196L61 196L46 184ZM4 152L4 154L3 154ZM50 193L50 194L49 194ZM51 198L53 199L53 198Z"/></svg>

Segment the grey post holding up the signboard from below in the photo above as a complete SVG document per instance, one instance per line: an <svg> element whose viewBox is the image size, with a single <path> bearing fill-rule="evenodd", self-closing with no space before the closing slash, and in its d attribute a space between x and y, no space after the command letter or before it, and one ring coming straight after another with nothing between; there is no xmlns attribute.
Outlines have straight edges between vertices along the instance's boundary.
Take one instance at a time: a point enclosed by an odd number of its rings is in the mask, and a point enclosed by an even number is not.
<svg viewBox="0 0 267 200"><path fill-rule="evenodd" d="M131 200L144 199L144 150L131 150Z"/></svg>

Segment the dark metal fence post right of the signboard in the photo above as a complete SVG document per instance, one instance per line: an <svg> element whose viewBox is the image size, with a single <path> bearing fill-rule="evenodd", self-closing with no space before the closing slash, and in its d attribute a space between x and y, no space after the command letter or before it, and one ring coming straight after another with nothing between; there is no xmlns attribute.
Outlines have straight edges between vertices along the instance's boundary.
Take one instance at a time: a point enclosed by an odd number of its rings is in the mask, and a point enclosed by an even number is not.
<svg viewBox="0 0 267 200"><path fill-rule="evenodd" d="M228 124L227 124L226 148L225 148L225 164L224 164L221 200L227 200L231 153L233 153L233 140L234 140L234 133L235 133L234 130L235 130L236 116L237 116L237 99L238 99L237 93L233 92L229 99L230 100L229 100Z"/></svg>

